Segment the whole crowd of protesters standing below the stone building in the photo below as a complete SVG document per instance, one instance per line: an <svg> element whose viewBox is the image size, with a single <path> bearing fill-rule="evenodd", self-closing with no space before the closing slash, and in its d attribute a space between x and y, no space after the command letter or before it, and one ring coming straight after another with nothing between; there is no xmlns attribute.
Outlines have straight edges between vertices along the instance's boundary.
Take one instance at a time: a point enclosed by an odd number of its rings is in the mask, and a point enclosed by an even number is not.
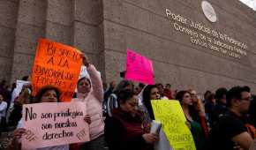
<svg viewBox="0 0 256 150"><path fill-rule="evenodd" d="M249 86L224 87L207 91L204 99L194 89L171 89L170 84L144 85L129 80L112 81L103 90L102 79L87 56L83 56L88 77L81 77L72 101L87 105L85 122L89 124L90 141L40 149L85 150L153 150L159 134L150 132L155 119L151 100L179 101L186 123L198 150L247 150L256 137L256 99ZM29 80L28 76L22 78ZM20 138L26 131L22 123L22 105L36 102L59 102L60 91L44 86L35 97L31 85L16 94L15 84L0 84L0 131L13 131L8 148L20 149ZM173 123L175 124L175 123ZM0 133L1 133L0 132Z"/></svg>

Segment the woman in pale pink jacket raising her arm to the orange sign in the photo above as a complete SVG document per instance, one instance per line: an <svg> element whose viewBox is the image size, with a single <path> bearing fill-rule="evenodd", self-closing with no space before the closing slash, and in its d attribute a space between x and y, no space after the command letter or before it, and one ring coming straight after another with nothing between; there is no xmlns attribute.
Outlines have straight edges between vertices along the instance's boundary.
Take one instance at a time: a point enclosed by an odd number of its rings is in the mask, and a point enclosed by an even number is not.
<svg viewBox="0 0 256 150"><path fill-rule="evenodd" d="M87 67L90 77L83 77L78 82L77 98L72 101L87 103L85 121L89 124L90 141L79 146L79 149L104 149L104 122L102 118L103 87L99 72L90 64L87 56L83 56L83 63Z"/></svg>

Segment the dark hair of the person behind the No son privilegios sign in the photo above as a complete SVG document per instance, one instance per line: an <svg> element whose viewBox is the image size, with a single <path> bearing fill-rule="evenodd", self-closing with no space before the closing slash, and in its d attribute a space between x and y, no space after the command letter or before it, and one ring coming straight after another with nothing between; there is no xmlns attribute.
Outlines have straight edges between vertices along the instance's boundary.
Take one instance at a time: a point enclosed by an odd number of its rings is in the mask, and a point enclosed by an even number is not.
<svg viewBox="0 0 256 150"><path fill-rule="evenodd" d="M37 92L37 94L34 97L34 102L41 102L41 97L43 94L47 93L48 91L55 91L56 92L56 99L58 102L60 102L60 91L55 86L42 86L41 89Z"/></svg>

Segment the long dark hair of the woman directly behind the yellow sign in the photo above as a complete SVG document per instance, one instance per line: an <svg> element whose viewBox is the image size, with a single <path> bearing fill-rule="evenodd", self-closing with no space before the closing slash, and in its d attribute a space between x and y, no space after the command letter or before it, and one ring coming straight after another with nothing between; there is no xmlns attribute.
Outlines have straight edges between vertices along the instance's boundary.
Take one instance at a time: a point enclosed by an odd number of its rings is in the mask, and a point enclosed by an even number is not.
<svg viewBox="0 0 256 150"><path fill-rule="evenodd" d="M145 105L145 107L148 111L148 114L149 114L150 118L154 120L153 108L152 108L151 101L150 101L150 93L151 93L151 90L153 88L158 89L158 86L156 86L156 85L147 85L143 90L142 98L143 98L143 103L144 103L144 105Z"/></svg>

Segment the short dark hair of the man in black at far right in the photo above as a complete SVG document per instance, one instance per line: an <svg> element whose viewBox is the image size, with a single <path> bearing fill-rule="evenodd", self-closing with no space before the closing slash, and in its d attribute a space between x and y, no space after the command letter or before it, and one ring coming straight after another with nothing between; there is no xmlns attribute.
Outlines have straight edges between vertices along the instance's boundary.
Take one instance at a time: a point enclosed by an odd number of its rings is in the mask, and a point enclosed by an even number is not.
<svg viewBox="0 0 256 150"><path fill-rule="evenodd" d="M234 86L230 89L227 94L227 106L231 107L232 99L240 100L242 98L242 92L249 92L251 89L249 86Z"/></svg>

